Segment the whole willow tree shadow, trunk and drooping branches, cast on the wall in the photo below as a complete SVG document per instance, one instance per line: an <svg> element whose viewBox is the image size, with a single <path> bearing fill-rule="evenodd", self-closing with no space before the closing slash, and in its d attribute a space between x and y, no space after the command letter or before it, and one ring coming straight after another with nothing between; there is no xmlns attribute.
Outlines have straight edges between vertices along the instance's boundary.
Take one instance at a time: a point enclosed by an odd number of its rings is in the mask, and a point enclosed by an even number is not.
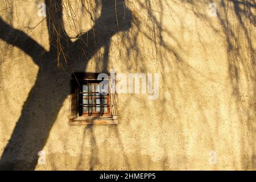
<svg viewBox="0 0 256 182"><path fill-rule="evenodd" d="M97 6L100 6L100 3L98 2L100 1L96 1L96 4ZM214 30L215 28L212 24L210 24L209 19L205 15L205 12L202 13L202 11L199 9L200 3L204 3L205 7L207 7L208 3L210 2L212 1L172 1L172 3L174 4L186 3L187 5L189 5L197 18L203 19L204 22L208 24L209 27L212 27ZM42 48L39 44L37 44L34 40L29 38L26 34L21 31L14 30L12 27L10 27L8 24L1 20L1 39L5 40L5 42L9 44L12 44L22 49L24 52L30 55L34 62L40 67L34 88L31 90L30 95L23 106L22 115L20 116L19 121L15 126L14 133L11 136L10 142L7 144L5 151L2 155L1 164L3 168L35 168L37 162L36 152L40 151L46 143L49 130L51 130L52 124L55 121L59 108L61 107L64 99L69 94L68 80L70 76L69 73L72 72L72 67L76 64L77 60L85 59L84 68L86 68L86 63L88 63L88 60L90 60L92 56L95 56L98 49L104 47L104 65L102 67L102 70L106 69L108 65L110 38L117 32L126 30L130 31L129 35L122 33L119 34L121 35L121 40L123 40L122 46L125 47L126 50L126 52L122 52L120 50L120 57L125 58L123 60L131 60L123 61L122 63L127 71L133 72L135 67L135 70L137 72L146 72L147 65L144 64L143 61L144 59L147 59L143 53L146 51L146 49L143 49L143 46L140 45L141 39L146 39L147 42L150 42L152 43L152 45L154 45L151 48L152 57L154 57L156 60L156 72L160 72L160 74L162 75L162 82L166 82L165 76L167 75L167 73L164 72L164 67L177 68L177 72L180 72L185 78L191 80L195 79L193 78L193 73L191 71L184 69L189 68L189 65L186 65L187 63L185 63L182 56L180 55L180 53L183 51L181 43L179 43L180 40L177 39L177 37L175 37L172 32L168 31L167 28L164 28L163 19L166 15L166 7L170 11L170 17L172 16L172 14L175 14L175 9L172 9L172 7L168 5L168 0L145 0L144 2L137 1L137 5L134 5L131 1L126 1L129 7L133 7L133 14L135 13L135 16L131 15L130 10L126 7L125 20L123 20L123 6L117 6L119 30L116 26L113 27L113 24L117 24L115 15L113 14L109 16L110 7L114 12L114 1L112 1L111 3L106 3L106 1L102 1L102 10L100 17L96 18L95 20L94 18L92 18L92 22L88 22L89 24L92 24L92 28L89 31L79 33L79 27L76 27L76 22L79 21L76 20L75 22L72 22L73 24L71 23L78 33L78 35L75 37L77 39L75 42L71 42L71 38L69 38L67 32L65 32L65 29L63 28L63 10L61 9L61 2L46 1L46 3L47 26L50 36L49 42L51 43L51 48L48 52L44 50L44 48ZM123 1L117 1L117 3L122 4ZM155 7L156 4L158 5L158 10L152 9L152 7ZM241 91L240 61L242 63L242 60L245 56L245 53L241 53L244 48L244 42L246 42L246 45L249 48L249 60L251 60L249 66L246 65L246 67L249 69L247 72L247 76L255 76L255 50L251 45L250 38L250 34L253 33L253 28L255 28L255 15L252 10L255 7L255 1L229 0L221 1L221 5L222 7L218 7L218 9L223 9L226 16L218 16L218 19L222 26L222 29L224 30L226 43L228 45L227 53L229 55L228 64L230 82L233 86L234 94L237 96L237 102L241 103L239 101L239 93ZM82 6L85 7L86 13L90 14L91 11L86 8L86 4L82 3ZM139 6L139 8L137 6ZM235 12L233 12L233 8ZM138 9L143 10L144 13L146 12L146 16L141 16L141 12L139 12ZM232 9L232 11L229 11L230 9ZM96 9L93 9L93 11L95 10ZM70 11L75 13L73 9L71 9ZM229 13L234 13L234 17L231 18L229 16ZM92 14L92 16L94 15ZM133 23L135 25L132 30L130 30L131 16L134 20ZM72 16L71 18L73 19L75 18L75 16ZM243 33L246 35L245 39L242 39L242 37L240 37L240 30L234 29L235 25L233 19L239 20L236 26L242 27ZM79 23L77 24L79 25ZM174 41L178 48L168 44L168 42L164 40L163 34L165 36L167 35L168 39ZM114 44L114 42L112 43ZM31 46L34 48L34 50L31 50ZM163 64L163 60L170 60L170 57L168 57L170 55L172 56L172 60L167 61L167 63ZM56 69L57 64L59 64L59 67L62 67L64 69ZM176 80L179 80L179 76L177 75L177 73L175 74L176 75L172 75L172 77L176 78ZM64 89L61 90L60 88ZM173 88L171 86L167 86L166 89L168 89L170 93L173 92ZM179 92L183 91L180 87L175 89L179 90ZM170 108L170 105L168 105L166 102L166 100L168 100L167 97L168 96L164 95L162 100L158 102L159 107L162 107L163 110L168 110L168 108ZM254 99L255 98L251 98L252 101L254 101ZM172 109L174 109L175 113L177 113L177 118L181 118L181 115L179 115L179 105L176 104L175 97L171 98L171 100ZM127 104L129 104L129 102L131 101L127 100ZM144 107L150 108L150 105L144 103ZM203 109L201 110L201 113L202 115L204 115ZM155 114L162 115L160 112ZM241 114L240 117L242 117ZM248 117L250 117L249 114ZM204 118L205 120L207 120L206 117ZM163 116L162 120L164 121L164 119L168 118L164 118ZM162 122L159 125L160 127L166 126ZM181 128L184 127L180 123L178 123L177 126L180 126ZM113 133L116 135L116 138L118 138L119 147L121 147L121 151L122 153L124 153L125 148L123 147L122 139L118 137L119 127L108 127L109 131L111 131L109 132L109 135L112 135ZM249 129L251 131L254 131L253 127L254 126L247 120L246 125L243 126L243 130L245 131ZM90 135L92 143L89 169L93 169L94 166L97 165L97 154L99 150L97 147L95 147L97 139L94 136L94 127L85 127L84 137L88 134ZM211 137L214 138L214 136ZM160 145L163 148L166 148L167 143L164 143L163 139L161 140L162 141L160 142ZM255 144L251 144L251 146L255 146ZM138 150L140 149L139 142L137 148ZM184 154L182 155L185 156L185 144L183 148ZM81 159L83 150L84 148L81 147ZM166 151L166 149L164 150ZM31 154L31 152L33 153ZM20 161L20 159L23 159L21 155L26 156L27 160ZM131 165L129 165L129 160L127 159L127 156L124 155L123 157L125 158L124 160L126 162L127 168L130 168ZM253 156L250 156L249 162L247 161L247 163L244 163L243 165L247 165L248 167L253 166L254 159L252 158ZM13 163L9 162L10 159L13 161ZM137 160L138 163L141 162L139 156ZM82 162L79 162L77 164L77 168L82 168ZM165 169L164 163L163 169Z"/></svg>

